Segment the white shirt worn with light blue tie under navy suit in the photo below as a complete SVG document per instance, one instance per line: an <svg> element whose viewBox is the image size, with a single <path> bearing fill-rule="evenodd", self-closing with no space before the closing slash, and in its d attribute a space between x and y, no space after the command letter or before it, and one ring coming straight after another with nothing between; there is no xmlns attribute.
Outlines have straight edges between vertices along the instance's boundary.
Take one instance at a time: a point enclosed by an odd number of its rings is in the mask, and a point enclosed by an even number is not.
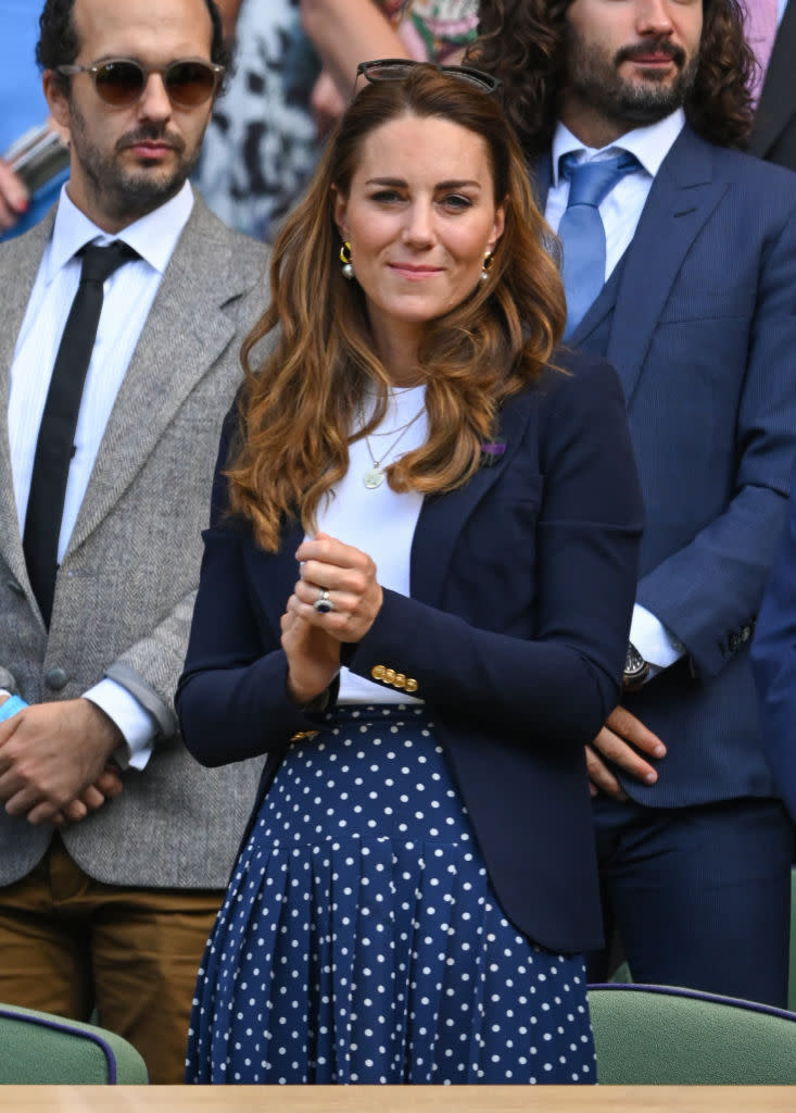
<svg viewBox="0 0 796 1113"><path fill-rule="evenodd" d="M563 155L577 151L580 161L596 161L611 158L620 151L630 151L639 162L638 169L620 178L599 206L606 237L606 282L636 235L636 227L649 190L653 188L655 175L683 130L685 121L685 112L678 108L657 124L627 131L616 142L601 150L585 147L560 121L556 127L551 149L553 183L545 207L545 217L554 232L558 230L569 198L569 181L559 174ZM661 669L674 664L685 653L683 642L639 603L633 609L630 641L645 661L650 663L649 679Z"/></svg>

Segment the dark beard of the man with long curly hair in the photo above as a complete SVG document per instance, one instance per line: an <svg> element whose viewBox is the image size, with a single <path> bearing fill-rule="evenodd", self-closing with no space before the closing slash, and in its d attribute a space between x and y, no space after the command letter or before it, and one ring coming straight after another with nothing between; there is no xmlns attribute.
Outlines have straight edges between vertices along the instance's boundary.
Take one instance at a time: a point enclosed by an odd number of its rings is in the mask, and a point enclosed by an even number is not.
<svg viewBox="0 0 796 1113"><path fill-rule="evenodd" d="M668 75L651 68L636 80L619 76L624 61L650 52L665 53L674 61L679 69L674 80L667 81ZM615 124L644 127L681 108L694 87L698 66L697 55L686 61L685 50L668 39L623 47L608 59L598 46L587 46L568 28L567 86L579 100Z"/></svg>

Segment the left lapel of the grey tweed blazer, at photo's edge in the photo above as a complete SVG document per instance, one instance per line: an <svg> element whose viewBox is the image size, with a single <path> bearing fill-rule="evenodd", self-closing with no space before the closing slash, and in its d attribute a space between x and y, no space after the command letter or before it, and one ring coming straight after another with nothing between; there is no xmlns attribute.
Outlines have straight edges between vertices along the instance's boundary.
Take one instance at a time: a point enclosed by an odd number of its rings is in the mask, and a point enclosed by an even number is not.
<svg viewBox="0 0 796 1113"><path fill-rule="evenodd" d="M8 431L8 396L11 388L11 363L28 308L28 302L39 272L44 245L52 233L54 209L27 235L4 244L0 249L0 282L3 289L3 327L0 331L0 397L4 402L0 421L0 552L18 582L28 585L28 569L22 552L22 539L17 503L13 496L11 449Z"/></svg>

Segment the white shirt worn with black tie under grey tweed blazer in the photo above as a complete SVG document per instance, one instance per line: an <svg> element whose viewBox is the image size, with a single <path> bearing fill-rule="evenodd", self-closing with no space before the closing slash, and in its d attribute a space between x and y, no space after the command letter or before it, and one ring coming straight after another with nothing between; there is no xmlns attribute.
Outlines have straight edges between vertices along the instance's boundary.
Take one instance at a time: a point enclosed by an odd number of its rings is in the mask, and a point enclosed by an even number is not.
<svg viewBox="0 0 796 1113"><path fill-rule="evenodd" d="M116 270L103 286L102 314L80 403L76 452L69 467L58 542L59 562L74 529L117 394L192 207L193 194L186 183L171 200L123 228L118 236L111 236L71 203L67 186L61 190L52 235L39 264L11 364L8 425L20 535L24 532L36 443L52 367L80 282L81 264L76 253L91 242L109 244L122 239L140 258ZM149 712L126 688L108 678L84 696L102 708L125 736L129 754L116 754L117 760L122 765L129 760L133 767L143 768L156 732L156 722Z"/></svg>

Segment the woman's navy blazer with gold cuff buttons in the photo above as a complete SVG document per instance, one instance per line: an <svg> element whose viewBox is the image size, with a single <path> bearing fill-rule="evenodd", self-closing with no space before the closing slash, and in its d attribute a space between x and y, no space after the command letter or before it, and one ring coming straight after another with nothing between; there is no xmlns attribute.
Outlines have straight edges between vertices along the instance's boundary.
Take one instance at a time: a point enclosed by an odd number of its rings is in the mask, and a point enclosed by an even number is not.
<svg viewBox="0 0 796 1113"><path fill-rule="evenodd" d="M411 598L385 591L347 663L417 680L504 910L580 951L601 935L584 743L618 698L643 511L614 371L560 365L503 406L503 455L424 500ZM268 754L261 799L291 736L318 726L287 695L279 640L304 531L267 553L226 504L219 471L177 708L201 762Z"/></svg>

